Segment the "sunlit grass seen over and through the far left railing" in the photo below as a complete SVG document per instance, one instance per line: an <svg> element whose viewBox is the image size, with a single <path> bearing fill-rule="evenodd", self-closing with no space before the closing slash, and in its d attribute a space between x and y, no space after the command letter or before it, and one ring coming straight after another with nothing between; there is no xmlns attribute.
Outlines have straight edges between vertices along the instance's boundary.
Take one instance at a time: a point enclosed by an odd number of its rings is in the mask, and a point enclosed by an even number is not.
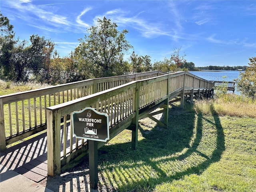
<svg viewBox="0 0 256 192"><path fill-rule="evenodd" d="M0 95L6 95L6 94L13 94L16 92L22 92L22 91L28 91L28 90L34 90L37 88L43 88L47 87L49 85L47 84L36 84L36 83L13 83L13 82L4 82L0 80ZM60 94L60 99L64 97L64 100L66 101L66 94L64 93L64 96L62 92L56 93L55 95L58 96ZM53 95L50 96L50 105L54 105L54 99ZM45 122L45 106L44 106L44 96L41 97L41 107L42 107L42 119L40 120L40 98L36 98L36 102L34 102L34 99L26 99L24 100L24 127L23 127L23 117L22 117L22 101L12 102L10 104L10 110L8 104L4 105L4 123L5 123L5 132L6 137L9 137L11 135L16 134L17 132L24 132L26 130L29 130L31 127L35 127L40 125L40 121L42 123ZM46 105L49 106L49 95L46 95ZM30 102L30 108L28 103ZM16 109L17 104L17 109ZM58 104L58 99L56 100L56 104ZM35 108L36 108L36 116L35 116ZM30 112L30 115L29 115ZM11 118L9 118L9 114L11 114ZM18 118L17 118L18 116ZM18 119L18 120L17 120ZM35 124L36 119L36 124ZM10 121L12 123L12 129L10 129ZM17 126L18 122L18 126ZM18 128L17 128L18 127ZM17 130L18 129L18 130ZM11 134L12 133L12 134ZM16 144L16 143L15 143ZM11 146L11 145L10 145Z"/></svg>

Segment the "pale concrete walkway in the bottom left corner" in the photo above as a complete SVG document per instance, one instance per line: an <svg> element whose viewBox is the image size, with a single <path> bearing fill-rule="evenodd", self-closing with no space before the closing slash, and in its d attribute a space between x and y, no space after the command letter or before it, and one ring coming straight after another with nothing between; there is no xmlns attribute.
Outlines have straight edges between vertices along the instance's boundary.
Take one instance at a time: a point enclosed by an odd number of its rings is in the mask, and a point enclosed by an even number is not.
<svg viewBox="0 0 256 192"><path fill-rule="evenodd" d="M0 192L53 192L0 164Z"/></svg>

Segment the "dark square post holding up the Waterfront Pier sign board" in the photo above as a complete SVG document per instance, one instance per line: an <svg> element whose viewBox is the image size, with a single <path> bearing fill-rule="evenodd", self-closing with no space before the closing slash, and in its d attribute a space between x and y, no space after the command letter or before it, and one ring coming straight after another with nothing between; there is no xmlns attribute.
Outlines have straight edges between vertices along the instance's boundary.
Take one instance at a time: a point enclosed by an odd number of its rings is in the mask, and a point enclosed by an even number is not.
<svg viewBox="0 0 256 192"><path fill-rule="evenodd" d="M98 142L88 140L89 145L89 173L90 173L90 188L98 188Z"/></svg>

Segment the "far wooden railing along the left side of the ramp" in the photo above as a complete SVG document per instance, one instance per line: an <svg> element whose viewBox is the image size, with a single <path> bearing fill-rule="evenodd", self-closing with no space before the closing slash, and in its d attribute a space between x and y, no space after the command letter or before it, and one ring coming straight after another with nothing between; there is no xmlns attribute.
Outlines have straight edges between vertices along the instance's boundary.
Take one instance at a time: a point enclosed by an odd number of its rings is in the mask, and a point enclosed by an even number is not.
<svg viewBox="0 0 256 192"><path fill-rule="evenodd" d="M0 150L46 129L46 108L134 80L166 74L160 71L88 79L0 96ZM69 117L67 117L69 118ZM62 120L63 121L63 120Z"/></svg>

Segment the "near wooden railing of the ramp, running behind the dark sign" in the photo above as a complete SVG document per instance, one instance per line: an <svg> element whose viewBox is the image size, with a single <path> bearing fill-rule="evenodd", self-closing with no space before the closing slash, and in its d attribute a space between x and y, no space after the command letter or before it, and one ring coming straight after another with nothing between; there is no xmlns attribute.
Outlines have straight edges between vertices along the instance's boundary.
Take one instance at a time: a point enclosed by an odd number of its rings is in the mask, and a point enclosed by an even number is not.
<svg viewBox="0 0 256 192"><path fill-rule="evenodd" d="M128 82L108 90L77 98L62 104L49 106L47 114L48 175L60 174L60 170L76 158L88 152L87 141L73 137L68 116L89 106L109 117L110 140L124 129L132 130L132 147L138 145L138 120L146 117L155 107L168 105L176 96L207 94L213 82L198 78L188 72ZM182 100L181 100L182 101ZM168 114L168 107L164 110ZM64 119L62 122L61 120ZM164 118L167 126L168 118ZM99 142L98 147L104 142Z"/></svg>

